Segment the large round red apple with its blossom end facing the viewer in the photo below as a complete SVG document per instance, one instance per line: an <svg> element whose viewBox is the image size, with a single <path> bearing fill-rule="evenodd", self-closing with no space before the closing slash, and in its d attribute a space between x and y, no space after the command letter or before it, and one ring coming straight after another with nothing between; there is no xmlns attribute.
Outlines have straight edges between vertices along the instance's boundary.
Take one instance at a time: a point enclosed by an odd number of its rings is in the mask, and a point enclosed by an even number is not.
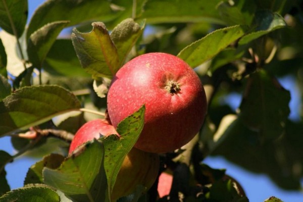
<svg viewBox="0 0 303 202"><path fill-rule="evenodd" d="M186 144L207 111L196 73L165 53L143 54L126 63L110 84L107 104L114 127L145 105L144 128L135 147L150 153L167 153Z"/></svg>

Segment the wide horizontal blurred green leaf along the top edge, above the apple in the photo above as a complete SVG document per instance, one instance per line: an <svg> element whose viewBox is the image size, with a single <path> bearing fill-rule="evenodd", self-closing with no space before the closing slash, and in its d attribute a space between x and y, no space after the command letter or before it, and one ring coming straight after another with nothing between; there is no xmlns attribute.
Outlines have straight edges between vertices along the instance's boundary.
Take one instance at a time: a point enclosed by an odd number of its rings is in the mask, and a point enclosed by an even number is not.
<svg viewBox="0 0 303 202"><path fill-rule="evenodd" d="M211 22L224 24L216 10L220 0L151 0L143 7L139 19L147 23Z"/></svg>

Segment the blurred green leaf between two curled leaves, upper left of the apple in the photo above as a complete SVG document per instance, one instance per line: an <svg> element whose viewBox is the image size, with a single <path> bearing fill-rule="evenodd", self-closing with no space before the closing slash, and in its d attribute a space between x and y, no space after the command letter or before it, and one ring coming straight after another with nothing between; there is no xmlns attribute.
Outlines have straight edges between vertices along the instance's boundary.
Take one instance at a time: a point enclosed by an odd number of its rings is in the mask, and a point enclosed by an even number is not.
<svg viewBox="0 0 303 202"><path fill-rule="evenodd" d="M53 75L88 77L70 39L57 39L44 60L43 70Z"/></svg>

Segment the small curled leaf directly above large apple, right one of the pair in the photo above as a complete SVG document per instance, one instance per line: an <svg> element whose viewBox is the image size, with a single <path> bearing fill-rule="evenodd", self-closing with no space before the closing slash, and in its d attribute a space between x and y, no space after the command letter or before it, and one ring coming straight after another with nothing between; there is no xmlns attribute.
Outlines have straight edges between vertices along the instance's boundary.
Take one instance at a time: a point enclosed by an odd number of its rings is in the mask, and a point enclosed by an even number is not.
<svg viewBox="0 0 303 202"><path fill-rule="evenodd" d="M120 61L119 68L123 65L131 48L141 36L143 29L144 24L139 25L131 18L125 19L113 29L111 39L117 48Z"/></svg>

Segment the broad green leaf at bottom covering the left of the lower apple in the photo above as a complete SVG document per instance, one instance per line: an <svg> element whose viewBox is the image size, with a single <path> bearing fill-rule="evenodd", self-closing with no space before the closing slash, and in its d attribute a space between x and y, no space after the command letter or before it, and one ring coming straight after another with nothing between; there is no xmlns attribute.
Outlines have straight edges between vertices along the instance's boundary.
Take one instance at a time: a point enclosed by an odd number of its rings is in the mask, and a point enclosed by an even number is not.
<svg viewBox="0 0 303 202"><path fill-rule="evenodd" d="M76 201L105 201L107 178L104 146L97 140L85 145L79 156L72 156L56 169L44 168L44 183L61 190Z"/></svg>

